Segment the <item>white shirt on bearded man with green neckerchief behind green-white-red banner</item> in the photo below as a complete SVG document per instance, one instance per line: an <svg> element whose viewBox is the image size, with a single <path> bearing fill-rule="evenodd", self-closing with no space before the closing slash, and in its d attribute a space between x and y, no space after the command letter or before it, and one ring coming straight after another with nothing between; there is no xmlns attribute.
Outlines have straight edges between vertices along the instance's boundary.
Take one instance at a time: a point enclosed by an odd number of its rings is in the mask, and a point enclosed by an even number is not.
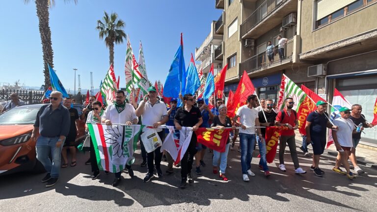
<svg viewBox="0 0 377 212"><path fill-rule="evenodd" d="M128 121L132 122L132 120L137 119L134 106L128 103L120 113L118 113L114 104L109 105L102 117L110 120L112 124L126 124Z"/></svg>

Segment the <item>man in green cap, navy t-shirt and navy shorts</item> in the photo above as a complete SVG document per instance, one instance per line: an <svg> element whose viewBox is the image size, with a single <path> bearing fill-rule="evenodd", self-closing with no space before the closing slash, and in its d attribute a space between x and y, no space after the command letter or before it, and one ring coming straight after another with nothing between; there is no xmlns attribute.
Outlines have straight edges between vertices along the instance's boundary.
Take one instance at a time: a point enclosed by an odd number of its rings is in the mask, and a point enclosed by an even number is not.
<svg viewBox="0 0 377 212"><path fill-rule="evenodd" d="M325 112L327 103L318 101L317 109L309 113L306 118L305 132L306 143L313 146L313 163L310 169L318 177L322 177L324 171L320 169L320 157L326 146L326 128L337 130L337 126L333 126L328 120L328 114Z"/></svg>

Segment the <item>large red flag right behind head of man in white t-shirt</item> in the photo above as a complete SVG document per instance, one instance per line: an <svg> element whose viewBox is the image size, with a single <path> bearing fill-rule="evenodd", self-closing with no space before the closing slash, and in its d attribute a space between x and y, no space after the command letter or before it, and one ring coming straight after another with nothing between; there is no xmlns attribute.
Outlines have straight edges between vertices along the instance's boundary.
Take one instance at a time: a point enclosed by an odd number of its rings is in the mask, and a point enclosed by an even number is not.
<svg viewBox="0 0 377 212"><path fill-rule="evenodd" d="M238 83L232 104L228 107L227 115L233 117L240 106L246 105L247 97L252 94L255 94L255 87L247 75L247 72L243 71L242 79Z"/></svg>

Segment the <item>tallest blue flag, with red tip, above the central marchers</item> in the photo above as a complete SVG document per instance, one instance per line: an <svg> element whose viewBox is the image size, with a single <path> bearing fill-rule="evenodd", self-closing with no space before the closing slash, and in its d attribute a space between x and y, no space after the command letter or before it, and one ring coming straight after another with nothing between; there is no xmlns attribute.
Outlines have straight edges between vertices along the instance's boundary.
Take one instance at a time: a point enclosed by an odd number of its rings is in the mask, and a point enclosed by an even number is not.
<svg viewBox="0 0 377 212"><path fill-rule="evenodd" d="M163 85L163 96L177 98L179 96L179 92L182 92L184 95L185 88L186 67L185 59L183 58L183 40L181 33L181 45L175 53L174 60L170 65L169 72L167 73L165 84Z"/></svg>

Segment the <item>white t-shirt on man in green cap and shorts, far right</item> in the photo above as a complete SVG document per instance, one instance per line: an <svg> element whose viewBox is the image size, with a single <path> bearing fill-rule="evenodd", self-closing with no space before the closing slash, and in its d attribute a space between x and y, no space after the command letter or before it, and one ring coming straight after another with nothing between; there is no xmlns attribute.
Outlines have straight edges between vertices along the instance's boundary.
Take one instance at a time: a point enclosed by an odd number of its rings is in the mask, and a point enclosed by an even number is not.
<svg viewBox="0 0 377 212"><path fill-rule="evenodd" d="M339 128L336 131L339 144L344 147L353 147L352 132L355 129L353 122L342 117L336 118L333 122Z"/></svg>

